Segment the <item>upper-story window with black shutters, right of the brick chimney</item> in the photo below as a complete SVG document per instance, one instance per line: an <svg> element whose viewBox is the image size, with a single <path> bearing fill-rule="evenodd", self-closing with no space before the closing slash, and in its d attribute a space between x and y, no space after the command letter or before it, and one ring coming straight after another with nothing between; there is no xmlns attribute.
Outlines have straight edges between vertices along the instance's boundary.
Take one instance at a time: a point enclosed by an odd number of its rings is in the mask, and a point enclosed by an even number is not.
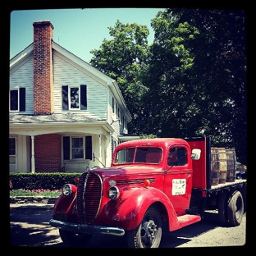
<svg viewBox="0 0 256 256"><path fill-rule="evenodd" d="M87 87L86 85L62 86L62 110L86 110Z"/></svg>

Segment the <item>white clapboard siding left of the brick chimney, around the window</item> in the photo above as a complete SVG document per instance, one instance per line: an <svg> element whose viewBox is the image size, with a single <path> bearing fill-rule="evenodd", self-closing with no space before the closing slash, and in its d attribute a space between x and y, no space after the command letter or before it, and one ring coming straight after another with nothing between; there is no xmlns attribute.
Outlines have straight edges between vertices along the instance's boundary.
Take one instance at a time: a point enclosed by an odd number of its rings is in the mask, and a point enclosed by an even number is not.
<svg viewBox="0 0 256 256"><path fill-rule="evenodd" d="M33 56L22 66L10 74L10 89L25 88L25 112L23 114L34 113L34 75Z"/></svg>

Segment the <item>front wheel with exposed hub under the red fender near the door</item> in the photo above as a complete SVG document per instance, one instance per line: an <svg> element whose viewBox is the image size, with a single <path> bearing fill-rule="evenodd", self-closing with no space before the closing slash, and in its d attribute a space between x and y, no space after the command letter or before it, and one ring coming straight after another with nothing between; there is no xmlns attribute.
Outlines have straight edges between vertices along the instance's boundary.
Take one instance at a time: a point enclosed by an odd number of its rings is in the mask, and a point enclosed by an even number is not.
<svg viewBox="0 0 256 256"><path fill-rule="evenodd" d="M129 248L158 248L162 238L162 220L158 210L149 207L142 222L132 231L127 231Z"/></svg>

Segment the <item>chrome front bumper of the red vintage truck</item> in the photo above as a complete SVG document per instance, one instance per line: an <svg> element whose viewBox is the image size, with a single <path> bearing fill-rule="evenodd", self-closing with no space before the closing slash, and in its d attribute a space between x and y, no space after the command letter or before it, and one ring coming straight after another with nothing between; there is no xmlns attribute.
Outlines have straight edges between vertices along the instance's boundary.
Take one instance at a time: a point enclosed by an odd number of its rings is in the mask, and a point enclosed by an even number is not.
<svg viewBox="0 0 256 256"><path fill-rule="evenodd" d="M85 224L76 224L72 222L61 222L53 219L50 220L50 225L66 231L72 231L75 233L125 235L125 231L121 227L90 226Z"/></svg>

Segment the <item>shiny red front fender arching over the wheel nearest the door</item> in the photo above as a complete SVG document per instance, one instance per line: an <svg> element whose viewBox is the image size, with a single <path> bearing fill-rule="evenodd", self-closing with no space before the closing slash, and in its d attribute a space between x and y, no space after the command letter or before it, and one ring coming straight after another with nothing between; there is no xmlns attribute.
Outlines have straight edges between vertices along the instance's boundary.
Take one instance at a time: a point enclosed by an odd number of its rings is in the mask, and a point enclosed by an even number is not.
<svg viewBox="0 0 256 256"><path fill-rule="evenodd" d="M169 226L179 226L170 199L161 190L153 187L124 190L121 201L110 210L109 222L113 226L121 226L125 231L133 230L139 226L149 206L156 202L162 203L167 209Z"/></svg>

